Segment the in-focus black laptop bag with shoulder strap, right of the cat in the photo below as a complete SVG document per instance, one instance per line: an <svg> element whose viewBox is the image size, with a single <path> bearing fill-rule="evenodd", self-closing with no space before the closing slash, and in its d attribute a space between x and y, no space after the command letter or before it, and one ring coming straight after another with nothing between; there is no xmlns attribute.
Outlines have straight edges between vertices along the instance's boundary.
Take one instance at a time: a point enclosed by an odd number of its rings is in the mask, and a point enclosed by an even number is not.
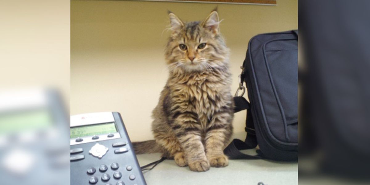
<svg viewBox="0 0 370 185"><path fill-rule="evenodd" d="M231 159L297 161L298 31L260 34L250 39L239 75L250 103L238 91L235 112L247 109L245 141L234 139L224 152ZM256 148L257 155L239 150Z"/></svg>

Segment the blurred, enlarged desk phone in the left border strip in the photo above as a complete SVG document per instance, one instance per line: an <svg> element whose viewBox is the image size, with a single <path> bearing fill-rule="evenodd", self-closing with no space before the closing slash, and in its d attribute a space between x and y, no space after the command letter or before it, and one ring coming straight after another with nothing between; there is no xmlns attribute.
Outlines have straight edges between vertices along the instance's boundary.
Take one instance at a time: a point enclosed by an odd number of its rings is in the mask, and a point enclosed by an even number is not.
<svg viewBox="0 0 370 185"><path fill-rule="evenodd" d="M1 91L0 184L68 184L68 123L57 90Z"/></svg>

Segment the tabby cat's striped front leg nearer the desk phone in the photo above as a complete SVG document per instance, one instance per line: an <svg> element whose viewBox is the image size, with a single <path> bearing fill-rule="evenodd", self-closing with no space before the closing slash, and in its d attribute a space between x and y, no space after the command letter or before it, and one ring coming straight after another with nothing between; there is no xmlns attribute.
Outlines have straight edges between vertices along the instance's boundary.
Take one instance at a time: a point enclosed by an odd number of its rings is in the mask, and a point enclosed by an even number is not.
<svg viewBox="0 0 370 185"><path fill-rule="evenodd" d="M210 165L202 143L198 115L191 111L176 112L173 124L172 129L184 149L190 170L207 171Z"/></svg>

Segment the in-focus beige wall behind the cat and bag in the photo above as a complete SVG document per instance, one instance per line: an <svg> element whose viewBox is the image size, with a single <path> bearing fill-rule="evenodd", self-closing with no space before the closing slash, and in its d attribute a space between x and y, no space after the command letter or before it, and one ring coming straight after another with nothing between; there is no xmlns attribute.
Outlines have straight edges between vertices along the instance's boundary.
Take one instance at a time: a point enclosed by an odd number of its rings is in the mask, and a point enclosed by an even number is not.
<svg viewBox="0 0 370 185"><path fill-rule="evenodd" d="M277 6L218 4L231 49L232 94L248 41L259 33L298 28L297 1ZM167 10L202 20L216 4L148 1L71 1L71 115L118 111L132 141L152 139L151 111L167 78ZM245 112L235 115L244 132Z"/></svg>

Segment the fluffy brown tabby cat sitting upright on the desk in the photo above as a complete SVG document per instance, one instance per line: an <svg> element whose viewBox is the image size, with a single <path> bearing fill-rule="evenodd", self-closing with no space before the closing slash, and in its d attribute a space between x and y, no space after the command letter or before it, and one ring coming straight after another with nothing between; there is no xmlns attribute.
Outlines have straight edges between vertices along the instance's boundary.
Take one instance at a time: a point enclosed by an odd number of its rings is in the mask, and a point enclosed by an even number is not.
<svg viewBox="0 0 370 185"><path fill-rule="evenodd" d="M229 49L216 10L203 22L184 23L169 12L172 34L165 49L169 78L153 110L155 141L134 143L137 154L162 152L192 171L224 167L232 134Z"/></svg>

